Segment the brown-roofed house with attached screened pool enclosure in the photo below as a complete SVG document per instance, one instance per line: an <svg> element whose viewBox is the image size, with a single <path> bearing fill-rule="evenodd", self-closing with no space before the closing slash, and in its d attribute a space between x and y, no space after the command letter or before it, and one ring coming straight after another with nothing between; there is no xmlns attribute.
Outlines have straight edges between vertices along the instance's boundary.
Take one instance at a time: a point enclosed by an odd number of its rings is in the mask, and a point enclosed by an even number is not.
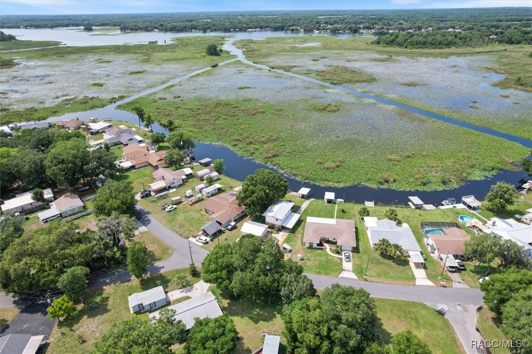
<svg viewBox="0 0 532 354"><path fill-rule="evenodd" d="M425 229L425 241L430 253L440 257L449 252L454 259L464 258L464 243L471 237L459 227Z"/></svg>

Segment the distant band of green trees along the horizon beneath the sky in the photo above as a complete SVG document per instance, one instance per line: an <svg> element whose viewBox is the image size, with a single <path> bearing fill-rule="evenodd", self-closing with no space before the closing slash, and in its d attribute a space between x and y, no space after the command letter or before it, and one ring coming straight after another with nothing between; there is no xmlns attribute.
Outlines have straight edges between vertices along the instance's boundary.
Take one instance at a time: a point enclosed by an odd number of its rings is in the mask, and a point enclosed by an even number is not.
<svg viewBox="0 0 532 354"><path fill-rule="evenodd" d="M115 26L121 31L312 33L375 31L378 45L448 48L532 44L528 7L444 10L240 11L96 15L4 15L2 28ZM448 31L450 29L459 31Z"/></svg>

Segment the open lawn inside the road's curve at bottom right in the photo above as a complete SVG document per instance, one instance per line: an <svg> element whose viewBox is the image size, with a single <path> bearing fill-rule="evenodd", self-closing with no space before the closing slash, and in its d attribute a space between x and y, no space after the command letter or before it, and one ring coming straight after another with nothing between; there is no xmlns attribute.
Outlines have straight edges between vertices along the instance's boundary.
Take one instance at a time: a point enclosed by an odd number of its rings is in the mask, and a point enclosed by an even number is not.
<svg viewBox="0 0 532 354"><path fill-rule="evenodd" d="M462 344L451 324L434 309L418 302L375 298L379 332L384 342L406 329L429 344L434 354L463 353Z"/></svg>

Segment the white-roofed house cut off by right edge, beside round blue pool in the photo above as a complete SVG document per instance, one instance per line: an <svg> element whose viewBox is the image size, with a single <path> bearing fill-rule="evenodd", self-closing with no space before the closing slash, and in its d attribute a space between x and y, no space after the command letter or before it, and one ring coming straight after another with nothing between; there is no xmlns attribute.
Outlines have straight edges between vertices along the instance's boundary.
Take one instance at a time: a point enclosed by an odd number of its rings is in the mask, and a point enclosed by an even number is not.
<svg viewBox="0 0 532 354"><path fill-rule="evenodd" d="M532 225L523 224L513 219L492 217L487 223L486 232L493 232L503 239L517 242L532 258Z"/></svg>

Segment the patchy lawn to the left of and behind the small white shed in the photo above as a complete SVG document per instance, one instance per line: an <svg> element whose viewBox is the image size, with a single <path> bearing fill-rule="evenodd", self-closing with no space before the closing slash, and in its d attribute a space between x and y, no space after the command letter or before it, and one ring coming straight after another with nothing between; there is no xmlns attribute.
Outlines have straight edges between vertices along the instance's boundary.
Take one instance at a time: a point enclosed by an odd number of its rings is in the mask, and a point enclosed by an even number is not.
<svg viewBox="0 0 532 354"><path fill-rule="evenodd" d="M81 353L94 350L94 343L109 330L112 324L124 321L131 315L127 297L139 291L152 289L159 284L165 289L176 286L177 274L186 274L190 284L200 281L200 277L190 277L188 269L152 275L142 283L132 280L126 283L107 285L103 288L88 291L85 294L87 303L98 302L98 308L91 311L81 304L77 305L77 313L57 325L50 336L49 353ZM138 315L147 319L147 314Z"/></svg>

